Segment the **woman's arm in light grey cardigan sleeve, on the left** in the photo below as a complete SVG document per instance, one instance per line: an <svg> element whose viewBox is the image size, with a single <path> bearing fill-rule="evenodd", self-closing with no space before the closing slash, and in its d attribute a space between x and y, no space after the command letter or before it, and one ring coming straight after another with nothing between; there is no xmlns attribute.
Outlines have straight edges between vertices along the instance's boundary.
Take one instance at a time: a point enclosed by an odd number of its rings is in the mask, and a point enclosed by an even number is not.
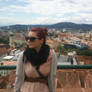
<svg viewBox="0 0 92 92"><path fill-rule="evenodd" d="M24 65L23 52L19 55L16 67L16 79L14 84L14 92L20 92L20 87L24 81Z"/></svg>

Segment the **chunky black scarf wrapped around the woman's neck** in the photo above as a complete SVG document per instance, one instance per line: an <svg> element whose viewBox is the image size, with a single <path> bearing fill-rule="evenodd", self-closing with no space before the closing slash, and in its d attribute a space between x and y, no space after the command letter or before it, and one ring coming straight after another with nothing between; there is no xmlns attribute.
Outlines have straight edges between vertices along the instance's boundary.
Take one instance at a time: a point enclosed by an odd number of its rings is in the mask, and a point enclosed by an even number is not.
<svg viewBox="0 0 92 92"><path fill-rule="evenodd" d="M27 61L29 61L32 65L39 67L41 64L47 61L49 51L50 47L48 45L42 45L39 52L27 46L24 51L24 56L26 57Z"/></svg>

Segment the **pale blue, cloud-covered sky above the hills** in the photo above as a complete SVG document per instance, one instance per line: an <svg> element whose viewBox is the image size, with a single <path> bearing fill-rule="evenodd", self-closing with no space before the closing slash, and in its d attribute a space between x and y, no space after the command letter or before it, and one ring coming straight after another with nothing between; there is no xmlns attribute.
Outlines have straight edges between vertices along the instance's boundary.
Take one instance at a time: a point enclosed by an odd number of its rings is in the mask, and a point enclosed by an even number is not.
<svg viewBox="0 0 92 92"><path fill-rule="evenodd" d="M0 0L0 26L92 24L92 0Z"/></svg>

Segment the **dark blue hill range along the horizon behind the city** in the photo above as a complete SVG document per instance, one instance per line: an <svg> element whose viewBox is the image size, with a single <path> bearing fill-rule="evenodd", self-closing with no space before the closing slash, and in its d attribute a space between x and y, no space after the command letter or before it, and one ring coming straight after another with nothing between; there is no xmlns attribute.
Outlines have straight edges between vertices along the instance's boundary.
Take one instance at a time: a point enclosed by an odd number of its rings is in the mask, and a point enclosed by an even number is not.
<svg viewBox="0 0 92 92"><path fill-rule="evenodd" d="M52 25L10 25L8 26L3 26L0 27L2 29L16 29L16 30L26 30L28 27L47 27L47 28L56 28L56 29L63 29L63 28L70 28L70 29L74 29L74 30L86 30L86 31L90 31L92 30L92 24L76 24L76 23L72 23L72 22L60 22L60 23L56 23L56 24L52 24Z"/></svg>

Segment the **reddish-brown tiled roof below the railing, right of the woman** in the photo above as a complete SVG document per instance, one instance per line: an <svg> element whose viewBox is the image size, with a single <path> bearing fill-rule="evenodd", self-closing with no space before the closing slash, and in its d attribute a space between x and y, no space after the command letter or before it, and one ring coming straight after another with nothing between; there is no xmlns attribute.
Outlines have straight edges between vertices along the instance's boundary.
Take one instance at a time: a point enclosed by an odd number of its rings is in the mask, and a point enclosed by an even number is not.
<svg viewBox="0 0 92 92"><path fill-rule="evenodd" d="M92 92L92 69L57 70L56 92Z"/></svg>

